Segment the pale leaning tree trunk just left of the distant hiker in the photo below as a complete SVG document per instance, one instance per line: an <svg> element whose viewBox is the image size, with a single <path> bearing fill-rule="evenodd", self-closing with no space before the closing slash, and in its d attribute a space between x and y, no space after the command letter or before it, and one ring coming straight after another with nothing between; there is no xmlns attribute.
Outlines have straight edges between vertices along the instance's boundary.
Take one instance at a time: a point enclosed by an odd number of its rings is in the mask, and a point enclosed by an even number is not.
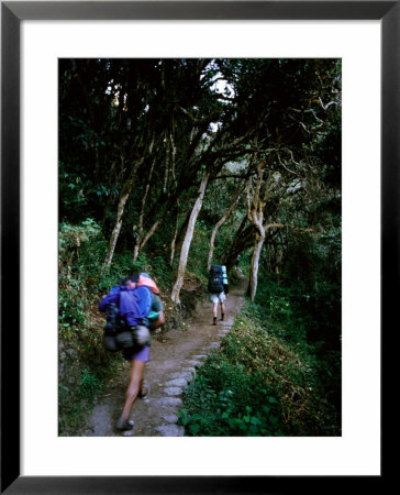
<svg viewBox="0 0 400 495"><path fill-rule="evenodd" d="M209 177L210 177L210 172L205 170L204 175L201 179L198 198L195 202L193 209L191 210L188 229L186 231L182 248L180 250L178 276L177 276L177 280L174 285L173 293L171 293L171 299L176 305L180 304L179 294L180 294L180 289L182 288L182 285L184 285L184 276L185 276L186 265L188 263L189 249L190 249L191 240L193 238L196 221L197 221L197 218L198 218L199 212L202 207Z"/></svg>

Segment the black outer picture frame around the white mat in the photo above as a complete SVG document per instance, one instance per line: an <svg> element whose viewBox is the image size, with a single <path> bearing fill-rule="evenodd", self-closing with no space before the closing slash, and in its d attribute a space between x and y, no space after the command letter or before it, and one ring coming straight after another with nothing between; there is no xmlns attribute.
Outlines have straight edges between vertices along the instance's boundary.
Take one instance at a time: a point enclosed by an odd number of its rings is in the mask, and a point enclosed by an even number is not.
<svg viewBox="0 0 400 495"><path fill-rule="evenodd" d="M338 484L343 482L340 476L329 480L327 476L312 477L311 482L309 476L20 475L20 23L23 20L120 19L381 21L381 337L400 300L397 194L400 158L399 1L1 2L1 493L337 492ZM381 384L385 384L384 374ZM384 461L382 450L381 475L367 477L371 490L381 491L382 481L386 480ZM359 487L359 482L357 476L345 477L346 487L349 488L353 485Z"/></svg>

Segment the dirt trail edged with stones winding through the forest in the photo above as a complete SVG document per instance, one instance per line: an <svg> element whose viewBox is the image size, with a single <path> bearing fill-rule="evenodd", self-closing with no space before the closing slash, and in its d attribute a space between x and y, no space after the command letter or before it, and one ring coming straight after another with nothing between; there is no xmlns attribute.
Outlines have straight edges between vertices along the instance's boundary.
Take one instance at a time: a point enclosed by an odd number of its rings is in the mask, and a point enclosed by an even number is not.
<svg viewBox="0 0 400 495"><path fill-rule="evenodd" d="M145 370L145 384L149 394L136 399L131 419L132 430L121 432L115 421L121 414L125 388L129 382L130 363L122 363L118 376L109 382L108 389L87 419L82 437L181 437L182 427L177 425L177 411L181 408L181 394L196 374L196 366L231 330L235 317L244 305L247 280L237 270L240 284L230 292L225 302L225 319L212 326L212 305L209 300L199 302L188 320L188 327L171 329L156 334L151 348L151 360ZM219 315L220 318L220 315Z"/></svg>

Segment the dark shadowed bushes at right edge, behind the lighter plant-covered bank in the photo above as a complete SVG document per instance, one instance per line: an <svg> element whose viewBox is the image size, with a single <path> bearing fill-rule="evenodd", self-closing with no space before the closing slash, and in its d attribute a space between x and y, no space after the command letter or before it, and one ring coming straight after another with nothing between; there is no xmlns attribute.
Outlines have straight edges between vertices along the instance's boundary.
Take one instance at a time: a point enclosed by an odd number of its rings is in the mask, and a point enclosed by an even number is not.
<svg viewBox="0 0 400 495"><path fill-rule="evenodd" d="M331 251L325 254L333 260ZM284 278L285 284L278 284L270 275L262 274L257 304L255 308L246 307L245 314L259 322L264 321L271 333L311 360L321 400L327 400L340 418L341 286L332 273L326 273L332 272L332 265L315 256L315 253L310 252L310 256L314 264L308 275L300 280L291 278L290 285L289 279ZM271 300L278 301L278 305L270 307ZM280 310L279 305L282 306Z"/></svg>

